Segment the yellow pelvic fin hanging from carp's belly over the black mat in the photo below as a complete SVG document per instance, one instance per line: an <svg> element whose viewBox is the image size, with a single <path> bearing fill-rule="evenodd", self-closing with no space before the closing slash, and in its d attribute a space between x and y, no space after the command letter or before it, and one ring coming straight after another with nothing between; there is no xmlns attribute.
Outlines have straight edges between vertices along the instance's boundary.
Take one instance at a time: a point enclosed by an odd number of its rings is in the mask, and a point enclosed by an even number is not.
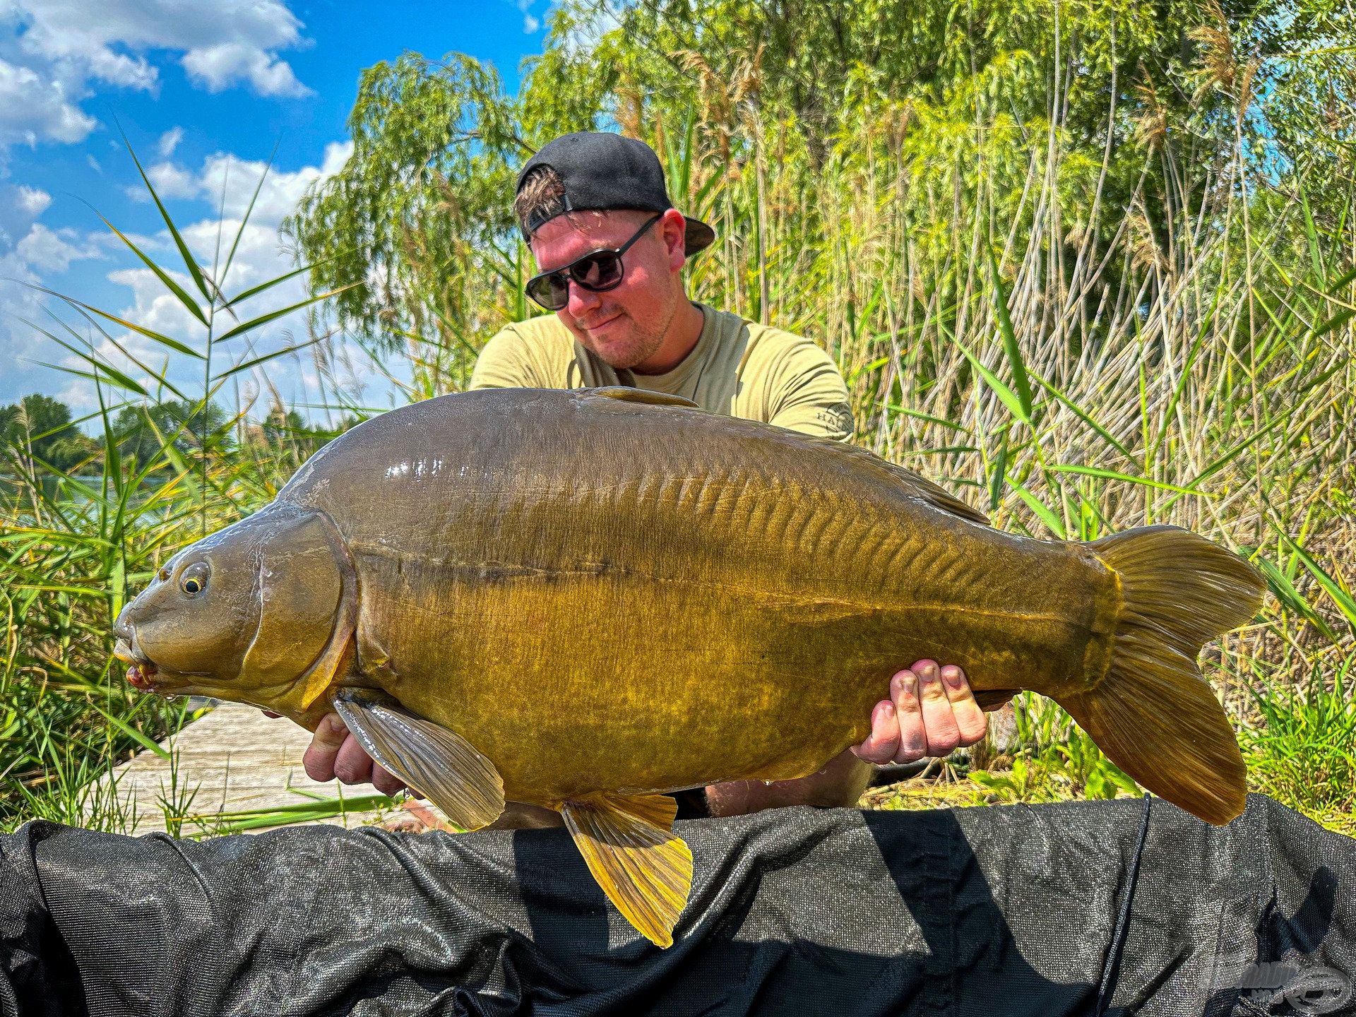
<svg viewBox="0 0 1356 1017"><path fill-rule="evenodd" d="M677 811L667 795L595 795L560 805L598 885L658 946L673 945L692 890L692 850L673 833Z"/></svg>

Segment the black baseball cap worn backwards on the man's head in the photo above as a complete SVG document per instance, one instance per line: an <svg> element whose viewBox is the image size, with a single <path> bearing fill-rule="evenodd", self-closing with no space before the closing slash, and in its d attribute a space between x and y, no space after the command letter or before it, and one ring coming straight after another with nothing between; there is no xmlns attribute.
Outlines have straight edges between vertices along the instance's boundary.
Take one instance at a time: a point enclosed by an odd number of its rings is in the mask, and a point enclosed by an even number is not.
<svg viewBox="0 0 1356 1017"><path fill-rule="evenodd" d="M530 240L537 229L567 212L635 209L667 212L674 206L664 186L659 156L644 141L595 130L563 134L541 146L518 174L517 191L527 174L549 165L565 186L563 207L553 213L536 213L523 226L522 239ZM692 256L716 239L716 231L700 220L683 216L687 233L683 251Z"/></svg>

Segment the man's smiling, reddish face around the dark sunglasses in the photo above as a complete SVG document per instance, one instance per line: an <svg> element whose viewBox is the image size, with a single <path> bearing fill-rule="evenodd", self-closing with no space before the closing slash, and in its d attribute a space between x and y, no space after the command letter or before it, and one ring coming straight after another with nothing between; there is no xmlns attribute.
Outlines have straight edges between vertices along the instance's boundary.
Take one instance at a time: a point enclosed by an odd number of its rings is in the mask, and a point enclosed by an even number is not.
<svg viewBox="0 0 1356 1017"><path fill-rule="evenodd" d="M556 216L533 233L532 252L538 270L551 271L590 251L621 247L651 218L651 212ZM570 302L556 315L586 350L617 370L644 369L683 298L682 237L683 218L669 210L622 255L624 275L616 289L593 293L571 279Z"/></svg>

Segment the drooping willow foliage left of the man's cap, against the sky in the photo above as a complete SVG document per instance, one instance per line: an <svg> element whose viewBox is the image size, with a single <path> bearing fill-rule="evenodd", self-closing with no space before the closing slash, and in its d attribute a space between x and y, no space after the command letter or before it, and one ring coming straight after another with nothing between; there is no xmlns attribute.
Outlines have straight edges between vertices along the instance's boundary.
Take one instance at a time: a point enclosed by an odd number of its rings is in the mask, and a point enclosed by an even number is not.
<svg viewBox="0 0 1356 1017"><path fill-rule="evenodd" d="M464 382L466 336L526 313L506 296L530 273L504 194L529 148L499 76L461 54L405 53L362 73L348 127L353 157L285 232L312 285L343 290L332 306L344 325L378 350L428 342L424 373Z"/></svg>

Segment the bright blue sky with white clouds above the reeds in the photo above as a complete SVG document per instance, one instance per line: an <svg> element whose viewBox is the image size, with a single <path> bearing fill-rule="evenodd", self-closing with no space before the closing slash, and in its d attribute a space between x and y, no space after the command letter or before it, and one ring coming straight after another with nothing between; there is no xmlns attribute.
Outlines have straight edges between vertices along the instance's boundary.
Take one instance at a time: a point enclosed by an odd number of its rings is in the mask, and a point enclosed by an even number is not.
<svg viewBox="0 0 1356 1017"><path fill-rule="evenodd" d="M225 287L239 292L290 267L277 225L309 183L343 164L344 119L363 68L405 50L428 57L458 50L492 62L513 91L522 57L541 50L549 3L0 0L0 404L28 392L60 396L77 412L94 404L89 382L34 363L77 361L22 319L50 327L39 317L43 306L77 319L23 283L190 344L201 336L201 325L95 213L187 281L117 125L203 258L217 235L222 182L229 229L277 146L235 285ZM259 298L255 312L301 296L300 282L279 286ZM263 330L255 351L296 338L298 324L281 320ZM160 357L142 336L108 331L146 362ZM94 338L132 376L146 377ZM236 354L245 355L243 346ZM348 380L369 385L365 401L385 403L386 389L354 363ZM302 355L279 358L267 381L260 374L244 380L244 396L271 382L289 403L312 401L316 380L308 365Z"/></svg>

